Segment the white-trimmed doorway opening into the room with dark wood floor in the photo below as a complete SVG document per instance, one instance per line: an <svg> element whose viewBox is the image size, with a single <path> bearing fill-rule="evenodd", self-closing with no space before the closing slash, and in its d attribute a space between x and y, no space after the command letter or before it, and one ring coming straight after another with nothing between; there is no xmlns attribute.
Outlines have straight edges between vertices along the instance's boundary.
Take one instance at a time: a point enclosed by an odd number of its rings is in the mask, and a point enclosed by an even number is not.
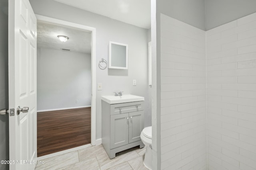
<svg viewBox="0 0 256 170"><path fill-rule="evenodd" d="M38 156L95 145L95 29L36 17Z"/></svg>

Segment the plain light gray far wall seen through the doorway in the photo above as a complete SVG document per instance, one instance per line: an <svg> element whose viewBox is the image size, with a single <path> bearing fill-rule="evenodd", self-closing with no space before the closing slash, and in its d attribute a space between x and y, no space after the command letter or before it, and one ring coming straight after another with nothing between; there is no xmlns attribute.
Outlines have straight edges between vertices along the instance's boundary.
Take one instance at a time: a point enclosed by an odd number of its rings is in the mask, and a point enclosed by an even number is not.
<svg viewBox="0 0 256 170"><path fill-rule="evenodd" d="M37 84L38 110L90 106L91 55L38 48Z"/></svg>

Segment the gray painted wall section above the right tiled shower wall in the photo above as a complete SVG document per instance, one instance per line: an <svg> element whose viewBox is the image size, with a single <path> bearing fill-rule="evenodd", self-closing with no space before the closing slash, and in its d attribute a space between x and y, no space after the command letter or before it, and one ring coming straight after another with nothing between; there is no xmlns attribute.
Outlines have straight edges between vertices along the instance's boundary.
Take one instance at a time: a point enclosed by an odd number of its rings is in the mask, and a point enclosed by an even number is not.
<svg viewBox="0 0 256 170"><path fill-rule="evenodd" d="M206 30L254 12L256 12L256 0L205 0Z"/></svg>

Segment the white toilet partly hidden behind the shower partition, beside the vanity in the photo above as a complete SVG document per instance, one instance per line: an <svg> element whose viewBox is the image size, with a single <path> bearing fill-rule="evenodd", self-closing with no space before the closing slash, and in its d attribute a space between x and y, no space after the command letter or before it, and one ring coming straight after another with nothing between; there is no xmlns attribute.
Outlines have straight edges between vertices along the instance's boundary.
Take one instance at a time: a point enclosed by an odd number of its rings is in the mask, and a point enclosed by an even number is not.
<svg viewBox="0 0 256 170"><path fill-rule="evenodd" d="M146 147L146 153L144 158L144 166L148 169L152 169L152 126L145 127L141 134L140 139Z"/></svg>

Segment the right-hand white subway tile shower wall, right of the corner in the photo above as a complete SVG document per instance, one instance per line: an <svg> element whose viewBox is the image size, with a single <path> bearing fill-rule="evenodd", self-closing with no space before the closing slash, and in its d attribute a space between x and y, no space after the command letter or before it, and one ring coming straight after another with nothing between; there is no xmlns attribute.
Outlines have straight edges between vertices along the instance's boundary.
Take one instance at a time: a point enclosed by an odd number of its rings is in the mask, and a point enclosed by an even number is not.
<svg viewBox="0 0 256 170"><path fill-rule="evenodd" d="M256 13L206 31L208 169L256 170Z"/></svg>

